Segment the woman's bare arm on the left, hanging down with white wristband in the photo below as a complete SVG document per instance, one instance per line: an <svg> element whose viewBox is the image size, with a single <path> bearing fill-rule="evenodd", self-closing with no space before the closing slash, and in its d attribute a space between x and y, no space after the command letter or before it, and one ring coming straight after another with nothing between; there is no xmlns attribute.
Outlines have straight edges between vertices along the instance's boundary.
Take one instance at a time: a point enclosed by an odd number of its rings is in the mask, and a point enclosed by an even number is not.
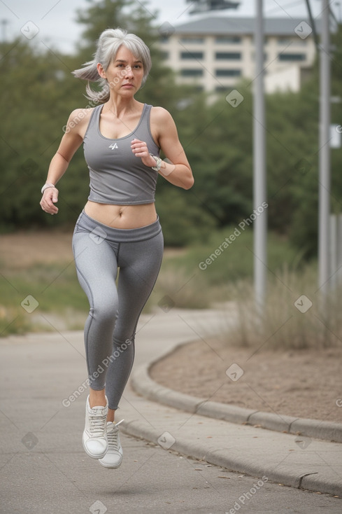
<svg viewBox="0 0 342 514"><path fill-rule="evenodd" d="M80 111L83 116L80 116ZM46 184L56 186L59 179L62 178L66 169L69 166L73 154L80 147L83 142L83 129L84 121L87 116L84 116L85 109L76 109L69 116L68 123L66 124L65 134L59 144L59 148L55 155L52 157L48 171ZM48 214L57 214L58 207L55 203L58 200L58 190L56 187L48 187L43 191L41 198L41 208Z"/></svg>

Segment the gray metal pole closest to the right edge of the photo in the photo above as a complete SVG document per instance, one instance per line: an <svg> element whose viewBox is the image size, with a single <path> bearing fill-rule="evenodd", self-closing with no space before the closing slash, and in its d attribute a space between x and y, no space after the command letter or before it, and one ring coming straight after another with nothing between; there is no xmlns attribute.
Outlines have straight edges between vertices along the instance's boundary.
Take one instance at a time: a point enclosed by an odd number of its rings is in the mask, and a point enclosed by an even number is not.
<svg viewBox="0 0 342 514"><path fill-rule="evenodd" d="M320 44L320 172L318 212L318 287L329 291L329 215L330 215L330 34L329 0L322 0Z"/></svg>

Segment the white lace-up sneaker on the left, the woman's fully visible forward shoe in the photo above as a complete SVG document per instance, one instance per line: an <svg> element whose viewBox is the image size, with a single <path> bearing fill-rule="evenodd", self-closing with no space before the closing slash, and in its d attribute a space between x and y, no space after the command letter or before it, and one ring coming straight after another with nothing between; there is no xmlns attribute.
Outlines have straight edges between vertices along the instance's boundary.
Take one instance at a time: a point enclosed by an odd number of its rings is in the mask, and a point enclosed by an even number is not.
<svg viewBox="0 0 342 514"><path fill-rule="evenodd" d="M93 459L101 459L106 455L108 441L106 434L106 419L108 413L108 401L106 407L97 405L90 408L89 396L85 405L85 429L82 442L85 452Z"/></svg>

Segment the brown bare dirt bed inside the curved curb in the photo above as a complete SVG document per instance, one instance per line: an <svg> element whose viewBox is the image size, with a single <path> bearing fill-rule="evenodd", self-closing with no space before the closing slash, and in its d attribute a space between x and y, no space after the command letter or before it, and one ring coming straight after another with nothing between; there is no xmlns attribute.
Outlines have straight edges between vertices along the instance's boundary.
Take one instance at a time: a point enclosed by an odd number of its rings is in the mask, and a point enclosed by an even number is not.
<svg viewBox="0 0 342 514"><path fill-rule="evenodd" d="M262 349L253 355L252 349L212 339L180 347L155 364L151 376L165 387L211 401L342 423L341 358L341 348Z"/></svg>

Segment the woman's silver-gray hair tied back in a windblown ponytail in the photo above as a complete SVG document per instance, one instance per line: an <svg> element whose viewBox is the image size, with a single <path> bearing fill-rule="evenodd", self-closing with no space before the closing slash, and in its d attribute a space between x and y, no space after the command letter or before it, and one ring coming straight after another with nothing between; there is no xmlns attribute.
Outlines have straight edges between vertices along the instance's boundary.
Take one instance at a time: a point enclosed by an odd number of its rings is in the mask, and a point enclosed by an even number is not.
<svg viewBox="0 0 342 514"><path fill-rule="evenodd" d="M106 29L101 33L97 41L97 51L94 53L94 60L85 62L82 68L72 72L76 78L83 78L83 80L88 81L86 87L88 99L102 103L107 102L109 99L109 85L106 78L99 76L97 63L99 62L104 68L104 71L106 71L109 64L111 64L112 60L115 58L117 50L119 50L122 45L143 63L143 81L141 85L145 84L152 67L148 46L135 34L127 34L127 30L120 28ZM92 88L90 88L90 82L98 82L101 86L100 90L92 90Z"/></svg>

